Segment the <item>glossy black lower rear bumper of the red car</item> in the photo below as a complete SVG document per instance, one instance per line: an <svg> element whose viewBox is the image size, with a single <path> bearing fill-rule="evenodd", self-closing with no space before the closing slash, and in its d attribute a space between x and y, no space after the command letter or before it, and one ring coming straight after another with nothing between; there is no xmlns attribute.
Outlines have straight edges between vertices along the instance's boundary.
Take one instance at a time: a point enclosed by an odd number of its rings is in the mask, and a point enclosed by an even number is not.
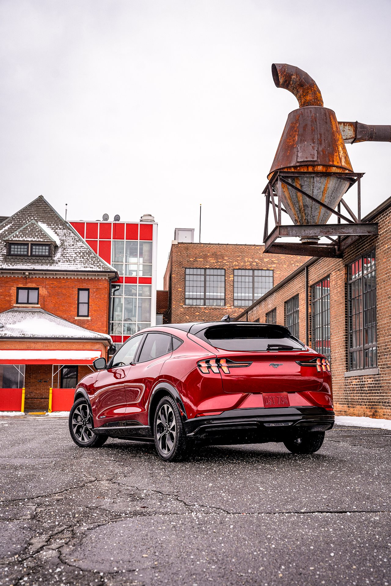
<svg viewBox="0 0 391 586"><path fill-rule="evenodd" d="M334 411L323 407L233 409L220 415L195 417L184 422L195 440L242 438L245 441L278 441L292 432L326 431L334 425ZM280 440L282 441L282 440Z"/></svg>

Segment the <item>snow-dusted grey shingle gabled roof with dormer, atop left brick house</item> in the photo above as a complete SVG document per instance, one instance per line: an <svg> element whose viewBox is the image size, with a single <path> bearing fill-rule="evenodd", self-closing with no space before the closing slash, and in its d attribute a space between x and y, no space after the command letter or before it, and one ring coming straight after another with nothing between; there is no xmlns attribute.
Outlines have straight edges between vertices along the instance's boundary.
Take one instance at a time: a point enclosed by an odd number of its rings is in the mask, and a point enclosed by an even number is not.
<svg viewBox="0 0 391 586"><path fill-rule="evenodd" d="M8 242L46 242L54 254L14 256L7 254ZM0 224L0 270L104 272L115 275L76 230L65 222L42 195Z"/></svg>

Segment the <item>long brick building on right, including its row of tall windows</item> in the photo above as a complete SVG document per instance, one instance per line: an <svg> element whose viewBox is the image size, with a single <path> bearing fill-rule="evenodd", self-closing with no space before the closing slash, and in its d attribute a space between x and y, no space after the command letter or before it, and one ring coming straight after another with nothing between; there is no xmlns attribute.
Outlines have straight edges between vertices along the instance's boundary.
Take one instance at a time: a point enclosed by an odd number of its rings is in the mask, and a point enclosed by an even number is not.
<svg viewBox="0 0 391 586"><path fill-rule="evenodd" d="M305 261L236 319L284 324L329 356L337 414L390 418L391 198L362 221L379 235Z"/></svg>

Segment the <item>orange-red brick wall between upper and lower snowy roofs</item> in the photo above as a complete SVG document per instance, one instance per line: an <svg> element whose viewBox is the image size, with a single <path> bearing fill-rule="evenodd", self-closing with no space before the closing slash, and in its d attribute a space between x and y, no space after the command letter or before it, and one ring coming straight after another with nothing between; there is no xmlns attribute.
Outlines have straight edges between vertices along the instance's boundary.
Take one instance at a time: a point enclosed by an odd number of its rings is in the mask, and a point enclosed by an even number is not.
<svg viewBox="0 0 391 586"><path fill-rule="evenodd" d="M107 279L0 277L0 312L15 306L17 287L38 287L38 306L50 314L94 332L108 332L110 284ZM77 318L77 289L90 289L90 319Z"/></svg>

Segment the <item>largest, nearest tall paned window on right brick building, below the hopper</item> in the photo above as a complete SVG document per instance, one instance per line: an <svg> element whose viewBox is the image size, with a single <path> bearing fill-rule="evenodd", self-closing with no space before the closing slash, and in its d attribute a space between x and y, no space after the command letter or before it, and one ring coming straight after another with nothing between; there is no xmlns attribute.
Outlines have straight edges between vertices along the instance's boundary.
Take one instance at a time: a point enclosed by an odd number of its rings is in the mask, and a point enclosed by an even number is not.
<svg viewBox="0 0 391 586"><path fill-rule="evenodd" d="M378 364L375 251L348 267L349 370Z"/></svg>

